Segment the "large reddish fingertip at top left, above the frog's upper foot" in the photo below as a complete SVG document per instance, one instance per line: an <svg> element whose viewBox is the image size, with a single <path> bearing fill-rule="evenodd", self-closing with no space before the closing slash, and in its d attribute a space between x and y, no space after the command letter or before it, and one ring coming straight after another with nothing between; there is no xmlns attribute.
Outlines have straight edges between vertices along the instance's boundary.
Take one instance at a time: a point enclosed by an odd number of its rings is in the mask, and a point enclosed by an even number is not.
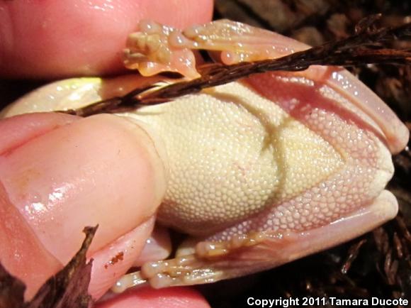
<svg viewBox="0 0 411 308"><path fill-rule="evenodd" d="M1 1L0 77L120 72L125 38L141 19L185 28L212 11L212 0Z"/></svg>

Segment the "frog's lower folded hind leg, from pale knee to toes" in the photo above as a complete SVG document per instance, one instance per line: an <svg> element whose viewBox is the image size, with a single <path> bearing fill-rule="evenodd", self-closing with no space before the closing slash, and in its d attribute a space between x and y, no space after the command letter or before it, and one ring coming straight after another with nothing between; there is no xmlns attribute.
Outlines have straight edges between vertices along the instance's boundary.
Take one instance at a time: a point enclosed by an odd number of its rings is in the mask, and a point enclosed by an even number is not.
<svg viewBox="0 0 411 308"><path fill-rule="evenodd" d="M142 282L154 288L198 285L274 268L349 241L393 219L397 211L394 195L383 190L368 207L317 229L260 231L222 242L198 241L186 245L174 259L146 263L140 272L123 276L113 291L122 292Z"/></svg>

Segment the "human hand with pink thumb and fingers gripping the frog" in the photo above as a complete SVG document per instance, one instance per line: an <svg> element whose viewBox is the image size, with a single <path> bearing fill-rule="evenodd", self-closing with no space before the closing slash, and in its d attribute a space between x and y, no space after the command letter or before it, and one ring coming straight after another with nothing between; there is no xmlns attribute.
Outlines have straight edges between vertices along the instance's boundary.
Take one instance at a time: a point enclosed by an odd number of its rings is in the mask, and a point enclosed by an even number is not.
<svg viewBox="0 0 411 308"><path fill-rule="evenodd" d="M211 8L205 0L4 1L0 75L121 72L118 53L141 18L183 28L208 21ZM100 297L150 236L167 185L161 153L135 123L111 115L31 114L1 121L0 131L1 262L26 283L29 298L78 250L83 227L99 224L89 251L95 259L89 290ZM104 268L122 249L123 260ZM142 298L150 307L164 305L164 298L207 306L193 290L176 288L129 292L104 307L121 301L142 307Z"/></svg>

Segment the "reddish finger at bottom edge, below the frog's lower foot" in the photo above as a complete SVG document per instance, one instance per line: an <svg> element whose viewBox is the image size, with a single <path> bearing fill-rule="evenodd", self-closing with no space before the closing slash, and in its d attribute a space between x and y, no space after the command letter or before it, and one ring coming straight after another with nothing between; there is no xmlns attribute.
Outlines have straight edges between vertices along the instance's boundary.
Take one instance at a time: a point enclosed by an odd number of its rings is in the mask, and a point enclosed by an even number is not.
<svg viewBox="0 0 411 308"><path fill-rule="evenodd" d="M154 290L150 287L126 291L106 302L96 304L95 308L208 308L204 297L188 287L169 287Z"/></svg>

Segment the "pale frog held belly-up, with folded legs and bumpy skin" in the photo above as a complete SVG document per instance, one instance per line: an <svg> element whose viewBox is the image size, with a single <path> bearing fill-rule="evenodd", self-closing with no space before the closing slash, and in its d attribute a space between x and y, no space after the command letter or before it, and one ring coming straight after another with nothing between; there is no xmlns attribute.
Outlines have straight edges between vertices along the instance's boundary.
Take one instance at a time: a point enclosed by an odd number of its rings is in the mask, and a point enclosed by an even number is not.
<svg viewBox="0 0 411 308"><path fill-rule="evenodd" d="M196 50L232 65L308 48L235 21L184 31L141 21L124 62L143 76L174 72L190 80L201 76ZM35 110L17 103L3 116L62 108L74 108L72 100ZM409 131L342 67L251 75L118 116L144 128L162 153L169 180L157 221L187 238L174 258L143 264L114 292L267 270L349 241L398 212L385 186Z"/></svg>

